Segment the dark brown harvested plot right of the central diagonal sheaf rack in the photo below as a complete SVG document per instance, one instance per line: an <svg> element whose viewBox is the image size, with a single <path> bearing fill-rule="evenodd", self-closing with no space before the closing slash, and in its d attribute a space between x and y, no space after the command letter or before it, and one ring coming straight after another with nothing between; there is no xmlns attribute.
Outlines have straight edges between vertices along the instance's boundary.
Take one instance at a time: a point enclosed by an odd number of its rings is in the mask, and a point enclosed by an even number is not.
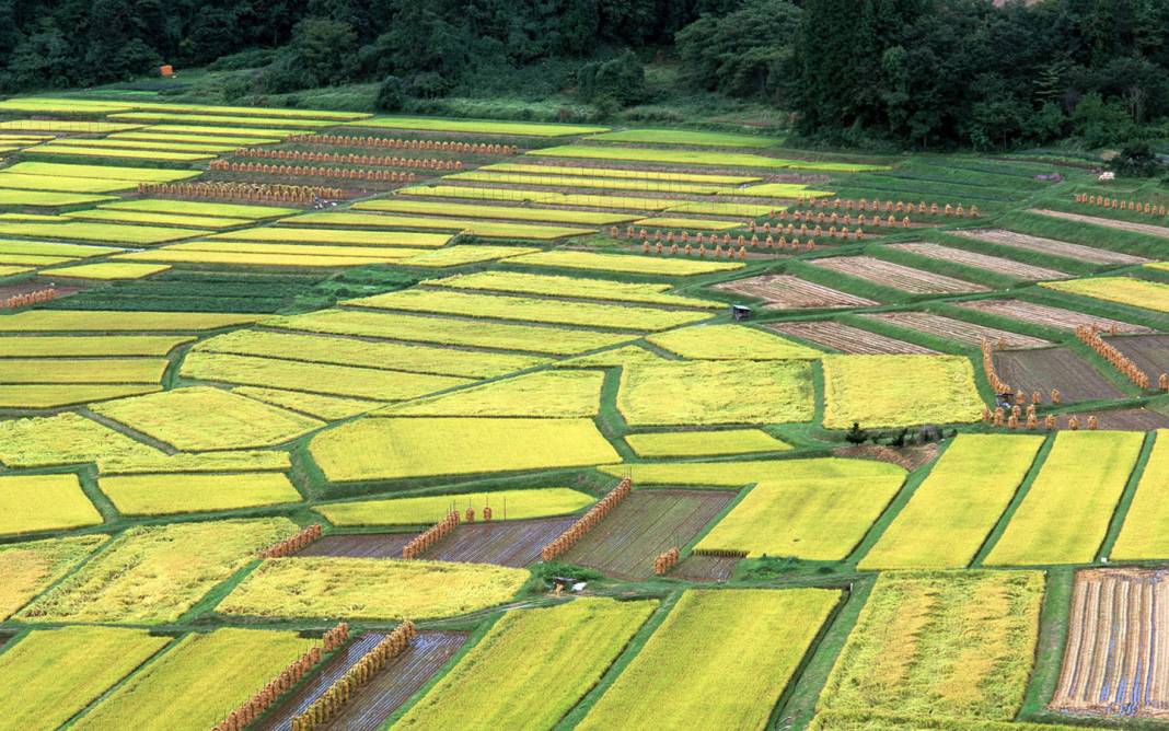
<svg viewBox="0 0 1169 731"><path fill-rule="evenodd" d="M734 499L731 490L638 490L565 554L621 579L653 575L653 559L690 543Z"/></svg>

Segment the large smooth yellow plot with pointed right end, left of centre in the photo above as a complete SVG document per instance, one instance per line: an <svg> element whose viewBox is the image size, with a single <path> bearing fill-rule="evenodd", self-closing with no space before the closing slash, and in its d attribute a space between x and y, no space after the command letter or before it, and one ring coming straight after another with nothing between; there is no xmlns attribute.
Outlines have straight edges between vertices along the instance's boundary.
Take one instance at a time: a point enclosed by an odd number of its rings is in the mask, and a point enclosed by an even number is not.
<svg viewBox="0 0 1169 731"><path fill-rule="evenodd" d="M366 418L317 435L310 451L333 482L621 461L592 419Z"/></svg>

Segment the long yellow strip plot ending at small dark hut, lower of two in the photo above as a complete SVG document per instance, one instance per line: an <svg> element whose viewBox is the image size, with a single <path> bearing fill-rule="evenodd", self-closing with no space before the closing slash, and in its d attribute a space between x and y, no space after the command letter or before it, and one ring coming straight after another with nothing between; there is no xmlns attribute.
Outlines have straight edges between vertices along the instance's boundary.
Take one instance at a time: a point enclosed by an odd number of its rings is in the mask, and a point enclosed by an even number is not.
<svg viewBox="0 0 1169 731"><path fill-rule="evenodd" d="M428 289L403 289L373 297L348 299L343 304L463 317L648 331L687 325L710 317L705 312Z"/></svg>

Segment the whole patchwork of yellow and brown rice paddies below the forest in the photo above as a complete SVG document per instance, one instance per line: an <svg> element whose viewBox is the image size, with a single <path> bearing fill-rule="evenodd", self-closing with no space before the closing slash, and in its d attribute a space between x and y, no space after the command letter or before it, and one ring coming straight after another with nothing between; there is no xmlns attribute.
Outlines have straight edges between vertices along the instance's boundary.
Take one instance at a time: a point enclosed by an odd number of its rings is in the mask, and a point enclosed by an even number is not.
<svg viewBox="0 0 1169 731"><path fill-rule="evenodd" d="M0 102L0 726L289 729L406 620L314 727L1169 717L1169 237L1086 168L157 96Z"/></svg>

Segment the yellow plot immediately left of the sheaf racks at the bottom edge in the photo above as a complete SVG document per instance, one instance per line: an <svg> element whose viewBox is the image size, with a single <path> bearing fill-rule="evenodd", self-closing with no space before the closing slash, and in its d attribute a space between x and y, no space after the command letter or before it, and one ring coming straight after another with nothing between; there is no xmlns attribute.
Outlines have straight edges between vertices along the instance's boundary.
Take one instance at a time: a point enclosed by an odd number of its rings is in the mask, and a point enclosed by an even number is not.
<svg viewBox="0 0 1169 731"><path fill-rule="evenodd" d="M72 727L207 729L245 703L316 641L295 632L192 633L105 697ZM247 657L247 662L240 662Z"/></svg>

